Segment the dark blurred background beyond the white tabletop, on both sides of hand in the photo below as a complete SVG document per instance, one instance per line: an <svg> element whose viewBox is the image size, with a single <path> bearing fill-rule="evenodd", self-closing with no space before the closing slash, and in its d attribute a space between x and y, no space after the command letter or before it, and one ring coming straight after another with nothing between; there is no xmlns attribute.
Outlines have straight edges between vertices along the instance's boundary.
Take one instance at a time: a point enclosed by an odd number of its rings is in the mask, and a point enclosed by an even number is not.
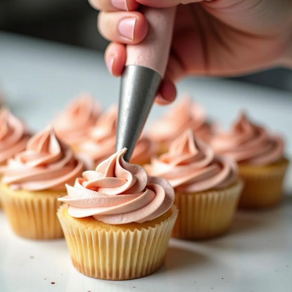
<svg viewBox="0 0 292 292"><path fill-rule="evenodd" d="M97 15L86 0L0 0L0 30L104 51L107 41L96 28ZM288 69L235 79L292 91Z"/></svg>

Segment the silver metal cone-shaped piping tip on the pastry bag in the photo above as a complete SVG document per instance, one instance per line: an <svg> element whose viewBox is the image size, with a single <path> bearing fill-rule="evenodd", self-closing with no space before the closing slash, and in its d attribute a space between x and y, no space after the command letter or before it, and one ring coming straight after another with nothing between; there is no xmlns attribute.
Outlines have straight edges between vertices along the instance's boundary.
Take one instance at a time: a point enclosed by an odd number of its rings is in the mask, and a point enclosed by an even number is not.
<svg viewBox="0 0 292 292"><path fill-rule="evenodd" d="M116 151L129 162L162 81L153 69L129 65L121 77Z"/></svg>

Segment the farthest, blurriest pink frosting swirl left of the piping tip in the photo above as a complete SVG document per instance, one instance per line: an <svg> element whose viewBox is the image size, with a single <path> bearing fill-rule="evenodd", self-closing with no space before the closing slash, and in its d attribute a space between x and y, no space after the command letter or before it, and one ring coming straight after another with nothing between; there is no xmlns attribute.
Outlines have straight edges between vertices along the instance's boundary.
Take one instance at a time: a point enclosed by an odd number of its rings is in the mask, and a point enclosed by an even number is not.
<svg viewBox="0 0 292 292"><path fill-rule="evenodd" d="M68 144L79 144L86 140L89 131L100 116L100 106L89 94L73 100L53 123L55 133Z"/></svg>

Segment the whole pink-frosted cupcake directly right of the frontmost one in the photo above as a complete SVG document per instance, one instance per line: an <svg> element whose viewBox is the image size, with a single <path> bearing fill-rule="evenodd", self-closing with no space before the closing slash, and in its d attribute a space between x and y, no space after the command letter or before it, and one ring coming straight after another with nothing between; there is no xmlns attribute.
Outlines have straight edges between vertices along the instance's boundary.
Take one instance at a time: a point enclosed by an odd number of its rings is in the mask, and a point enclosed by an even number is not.
<svg viewBox="0 0 292 292"><path fill-rule="evenodd" d="M149 175L167 179L175 190L179 215L173 237L206 239L228 230L243 186L237 165L215 156L191 129L145 169Z"/></svg>

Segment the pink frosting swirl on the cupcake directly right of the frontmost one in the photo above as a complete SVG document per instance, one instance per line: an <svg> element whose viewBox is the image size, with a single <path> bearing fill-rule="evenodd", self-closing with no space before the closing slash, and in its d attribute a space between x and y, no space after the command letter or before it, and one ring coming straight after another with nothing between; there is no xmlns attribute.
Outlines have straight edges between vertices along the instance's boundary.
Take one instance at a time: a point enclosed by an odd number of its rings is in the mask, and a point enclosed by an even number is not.
<svg viewBox="0 0 292 292"><path fill-rule="evenodd" d="M234 161L216 157L214 150L195 138L191 129L145 169L150 175L167 179L175 190L188 193L227 187L238 175Z"/></svg>

